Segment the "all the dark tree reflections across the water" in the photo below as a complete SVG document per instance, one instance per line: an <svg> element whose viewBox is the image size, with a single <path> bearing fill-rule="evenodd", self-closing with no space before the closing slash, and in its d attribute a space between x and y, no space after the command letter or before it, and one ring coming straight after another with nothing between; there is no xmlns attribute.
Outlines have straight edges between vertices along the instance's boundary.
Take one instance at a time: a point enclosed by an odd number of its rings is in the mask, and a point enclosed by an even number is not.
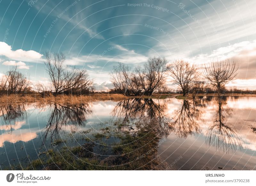
<svg viewBox="0 0 256 186"><path fill-rule="evenodd" d="M235 98L234 98L235 99ZM231 149L235 151L237 147L242 146L241 139L236 133L236 130L227 124L226 119L230 116L228 109L223 109L226 104L226 97L223 97L219 102L218 97L199 97L196 100L182 100L180 108L168 115L167 103L172 99L153 100L153 99L126 99L120 101L112 110L112 115L117 118L118 123L123 128L135 126L147 128L149 125L154 126L154 134L159 136L168 136L172 131L177 137L186 138L189 135L200 133L201 128L198 123L202 123L202 113L206 110L209 104L216 102L218 110L216 120L213 125L206 131L205 143L209 146L214 146L216 149L227 151ZM0 114L6 125L4 130L12 130L17 128L17 121L24 121L27 117L25 105L6 105L0 107ZM81 105L58 105L54 104L47 108L50 109L50 117L47 120L43 143L54 141L62 138L66 130L76 132L80 127L85 125L87 115L92 113L90 104ZM172 118L171 118L172 117ZM16 125L15 125L16 123ZM25 123L25 121L24 121ZM3 127L3 125L2 125ZM148 127L151 128L152 127ZM66 134L66 133L65 133Z"/></svg>

